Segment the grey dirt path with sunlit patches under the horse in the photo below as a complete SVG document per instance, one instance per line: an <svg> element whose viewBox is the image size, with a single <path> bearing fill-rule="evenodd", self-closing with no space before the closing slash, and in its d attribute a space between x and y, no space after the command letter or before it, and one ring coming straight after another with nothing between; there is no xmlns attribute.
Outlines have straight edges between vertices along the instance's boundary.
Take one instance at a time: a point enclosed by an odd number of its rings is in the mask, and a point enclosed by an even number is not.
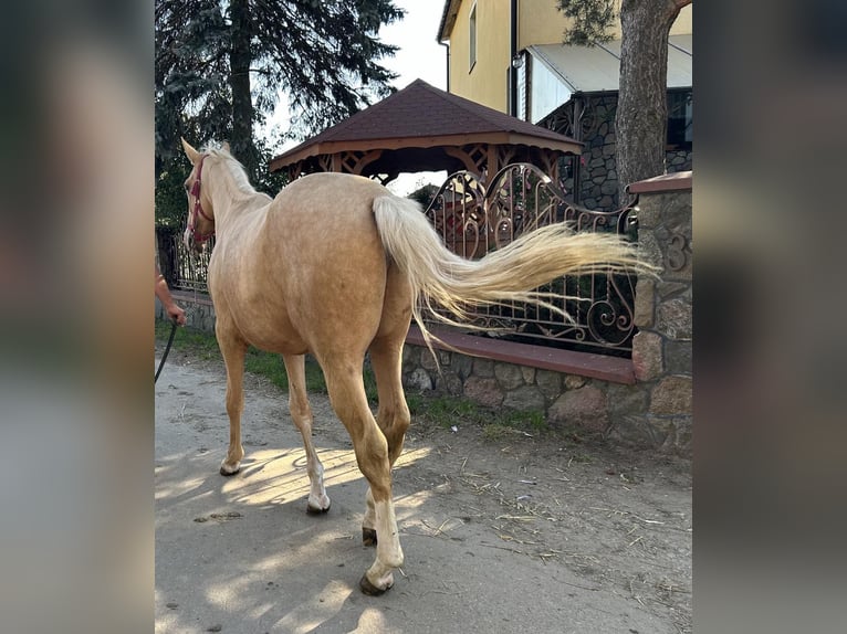
<svg viewBox="0 0 847 634"><path fill-rule="evenodd" d="M156 385L156 632L691 631L689 464L412 421L395 469L406 564L374 599L357 588L366 484L328 400L312 398L333 506L312 517L286 394L248 378L231 478L223 395L222 367L180 352Z"/></svg>

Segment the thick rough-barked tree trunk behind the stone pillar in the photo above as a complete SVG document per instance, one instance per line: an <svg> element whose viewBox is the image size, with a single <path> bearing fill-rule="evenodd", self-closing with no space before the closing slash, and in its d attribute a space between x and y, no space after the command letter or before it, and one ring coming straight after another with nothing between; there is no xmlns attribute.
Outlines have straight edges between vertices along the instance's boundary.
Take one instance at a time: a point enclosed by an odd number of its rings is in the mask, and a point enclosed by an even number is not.
<svg viewBox="0 0 847 634"><path fill-rule="evenodd" d="M618 204L626 187L665 173L668 127L668 32L688 2L623 0L617 139Z"/></svg>

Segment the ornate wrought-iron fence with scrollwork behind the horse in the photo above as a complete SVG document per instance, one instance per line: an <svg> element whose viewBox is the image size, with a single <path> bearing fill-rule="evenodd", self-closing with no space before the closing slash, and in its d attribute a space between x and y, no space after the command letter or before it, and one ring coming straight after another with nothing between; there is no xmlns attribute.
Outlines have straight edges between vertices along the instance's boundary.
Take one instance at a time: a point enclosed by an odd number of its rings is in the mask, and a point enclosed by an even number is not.
<svg viewBox="0 0 847 634"><path fill-rule="evenodd" d="M522 233L552 223L571 223L576 231L637 237L634 208L598 212L575 205L565 200L564 192L546 175L529 163L506 166L490 183L471 172L453 173L426 214L447 247L469 258L482 257ZM187 250L179 234L159 240L160 254L166 244L172 260L168 276L171 286L207 292L213 240L200 253ZM471 324L495 328L482 336L629 356L635 334L635 277L626 274L561 277L540 290L551 294L550 303L564 309L569 320L548 309L510 302L472 309ZM480 335L478 330L471 332Z"/></svg>

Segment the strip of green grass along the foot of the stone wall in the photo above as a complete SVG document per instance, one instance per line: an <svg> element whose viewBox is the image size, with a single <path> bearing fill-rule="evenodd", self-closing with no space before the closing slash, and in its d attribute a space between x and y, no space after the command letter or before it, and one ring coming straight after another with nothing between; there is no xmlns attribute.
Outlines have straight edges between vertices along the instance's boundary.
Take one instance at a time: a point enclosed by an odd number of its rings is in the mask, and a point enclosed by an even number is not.
<svg viewBox="0 0 847 634"><path fill-rule="evenodd" d="M170 323L156 321L156 339L167 341ZM218 341L215 336L194 328L179 328L172 344L174 350L181 350L208 361L223 363ZM258 350L252 346L247 351L244 369L253 374L265 377L281 390L289 389L289 378L282 357ZM372 405L377 403L377 388L374 372L368 361L364 367L365 392ZM310 393L326 394L326 380L317 361L306 356L306 390ZM422 393L406 394L406 403L412 418L426 421L435 426L450 429L453 425L474 425L482 429L482 435L489 441L503 440L516 433L538 435L547 430L544 414L540 411L515 412L487 409L468 399L450 395L428 395Z"/></svg>

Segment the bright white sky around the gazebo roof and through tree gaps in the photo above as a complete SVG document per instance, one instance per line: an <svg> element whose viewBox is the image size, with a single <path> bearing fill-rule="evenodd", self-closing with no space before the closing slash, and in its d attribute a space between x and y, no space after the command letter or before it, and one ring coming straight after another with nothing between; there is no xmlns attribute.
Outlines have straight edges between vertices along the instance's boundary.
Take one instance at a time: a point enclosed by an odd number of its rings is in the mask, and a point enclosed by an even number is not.
<svg viewBox="0 0 847 634"><path fill-rule="evenodd" d="M383 27L379 31L380 40L399 46L394 57L383 60L386 67L399 75L393 82L394 87L399 91L420 78L446 91L447 50L436 41L441 11L445 7L443 0L395 0L395 6L405 9L406 15L402 20ZM284 98L281 105L283 103ZM285 127L287 117L285 114L278 113L272 118L272 123ZM295 145L297 145L296 141L290 141L280 151ZM446 171L400 175L388 183L388 189L397 194L406 196L425 183L440 186L446 178Z"/></svg>

